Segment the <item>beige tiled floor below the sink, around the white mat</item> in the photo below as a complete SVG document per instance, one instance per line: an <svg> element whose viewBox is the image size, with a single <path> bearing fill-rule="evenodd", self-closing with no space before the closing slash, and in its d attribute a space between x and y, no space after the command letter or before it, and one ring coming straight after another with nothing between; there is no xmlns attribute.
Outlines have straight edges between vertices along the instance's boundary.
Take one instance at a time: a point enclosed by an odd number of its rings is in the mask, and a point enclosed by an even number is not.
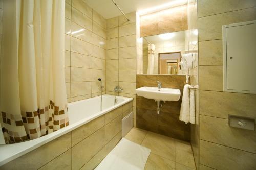
<svg viewBox="0 0 256 170"><path fill-rule="evenodd" d="M145 170L195 170L194 157L189 142L133 128L126 136L135 143L151 149Z"/></svg>

